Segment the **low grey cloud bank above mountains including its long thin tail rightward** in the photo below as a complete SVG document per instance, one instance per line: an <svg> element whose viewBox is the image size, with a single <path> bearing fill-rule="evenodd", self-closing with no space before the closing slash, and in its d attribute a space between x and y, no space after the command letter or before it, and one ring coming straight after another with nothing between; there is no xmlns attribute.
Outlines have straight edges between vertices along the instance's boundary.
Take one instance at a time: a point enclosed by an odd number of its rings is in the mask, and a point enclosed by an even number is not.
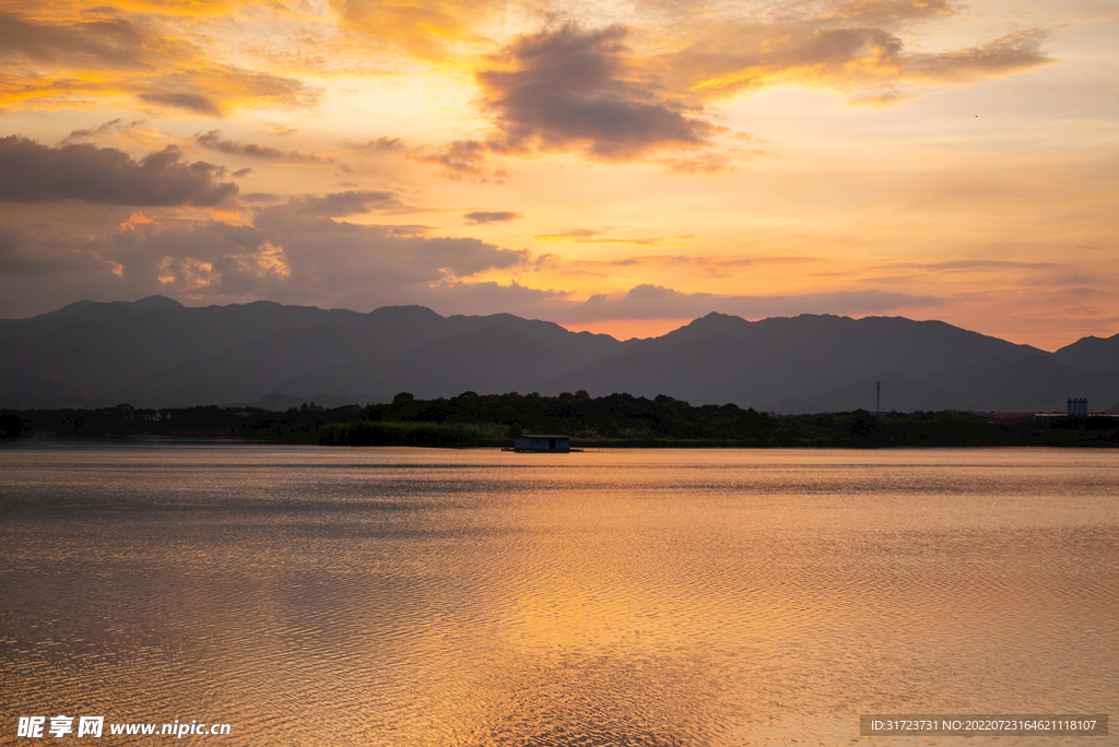
<svg viewBox="0 0 1119 747"><path fill-rule="evenodd" d="M45 303L44 294L50 296L48 305L152 293L192 303L267 297L363 311L422 303L440 313L509 312L560 323L694 319L712 311L747 319L862 315L944 303L932 295L881 291L761 296L684 293L656 285L573 301L562 290L471 282L487 272L530 270L527 252L473 238L429 238L422 236L423 226L367 226L316 216L301 199L258 210L250 226L137 223L94 242L32 239L0 230L0 297L6 299L0 313L17 304L37 308ZM26 289L38 295L28 296Z"/></svg>

